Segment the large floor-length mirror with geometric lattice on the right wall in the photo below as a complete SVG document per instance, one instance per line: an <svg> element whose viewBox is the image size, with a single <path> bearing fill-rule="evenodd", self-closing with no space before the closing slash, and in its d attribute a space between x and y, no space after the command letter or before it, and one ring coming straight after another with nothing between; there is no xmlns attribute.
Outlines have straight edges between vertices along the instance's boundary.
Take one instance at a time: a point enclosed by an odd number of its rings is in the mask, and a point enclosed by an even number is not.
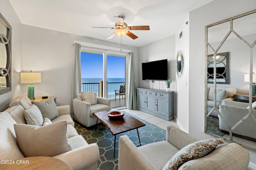
<svg viewBox="0 0 256 170"><path fill-rule="evenodd" d="M256 10L205 27L204 128L205 133L239 143L254 151L256 103L253 102L256 96L252 88L255 86L253 73L256 72L255 28ZM220 84L220 81L225 80L218 78L218 63L224 61L224 54L229 56L222 64L229 66L229 82Z"/></svg>

